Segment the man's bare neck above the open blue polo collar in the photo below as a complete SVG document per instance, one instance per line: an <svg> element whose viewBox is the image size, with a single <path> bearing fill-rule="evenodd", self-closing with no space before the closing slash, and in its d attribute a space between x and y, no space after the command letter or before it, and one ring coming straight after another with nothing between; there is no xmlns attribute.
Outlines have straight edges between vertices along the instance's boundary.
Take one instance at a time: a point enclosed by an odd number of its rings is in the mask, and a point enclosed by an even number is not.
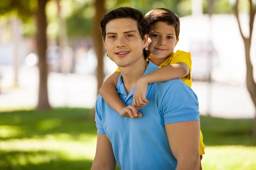
<svg viewBox="0 0 256 170"><path fill-rule="evenodd" d="M143 77L143 74L148 66L148 62L142 57L138 61L134 62L133 64L119 68L122 74L122 81L125 85L125 90L127 94L129 94L136 85L136 82L140 77Z"/></svg>

